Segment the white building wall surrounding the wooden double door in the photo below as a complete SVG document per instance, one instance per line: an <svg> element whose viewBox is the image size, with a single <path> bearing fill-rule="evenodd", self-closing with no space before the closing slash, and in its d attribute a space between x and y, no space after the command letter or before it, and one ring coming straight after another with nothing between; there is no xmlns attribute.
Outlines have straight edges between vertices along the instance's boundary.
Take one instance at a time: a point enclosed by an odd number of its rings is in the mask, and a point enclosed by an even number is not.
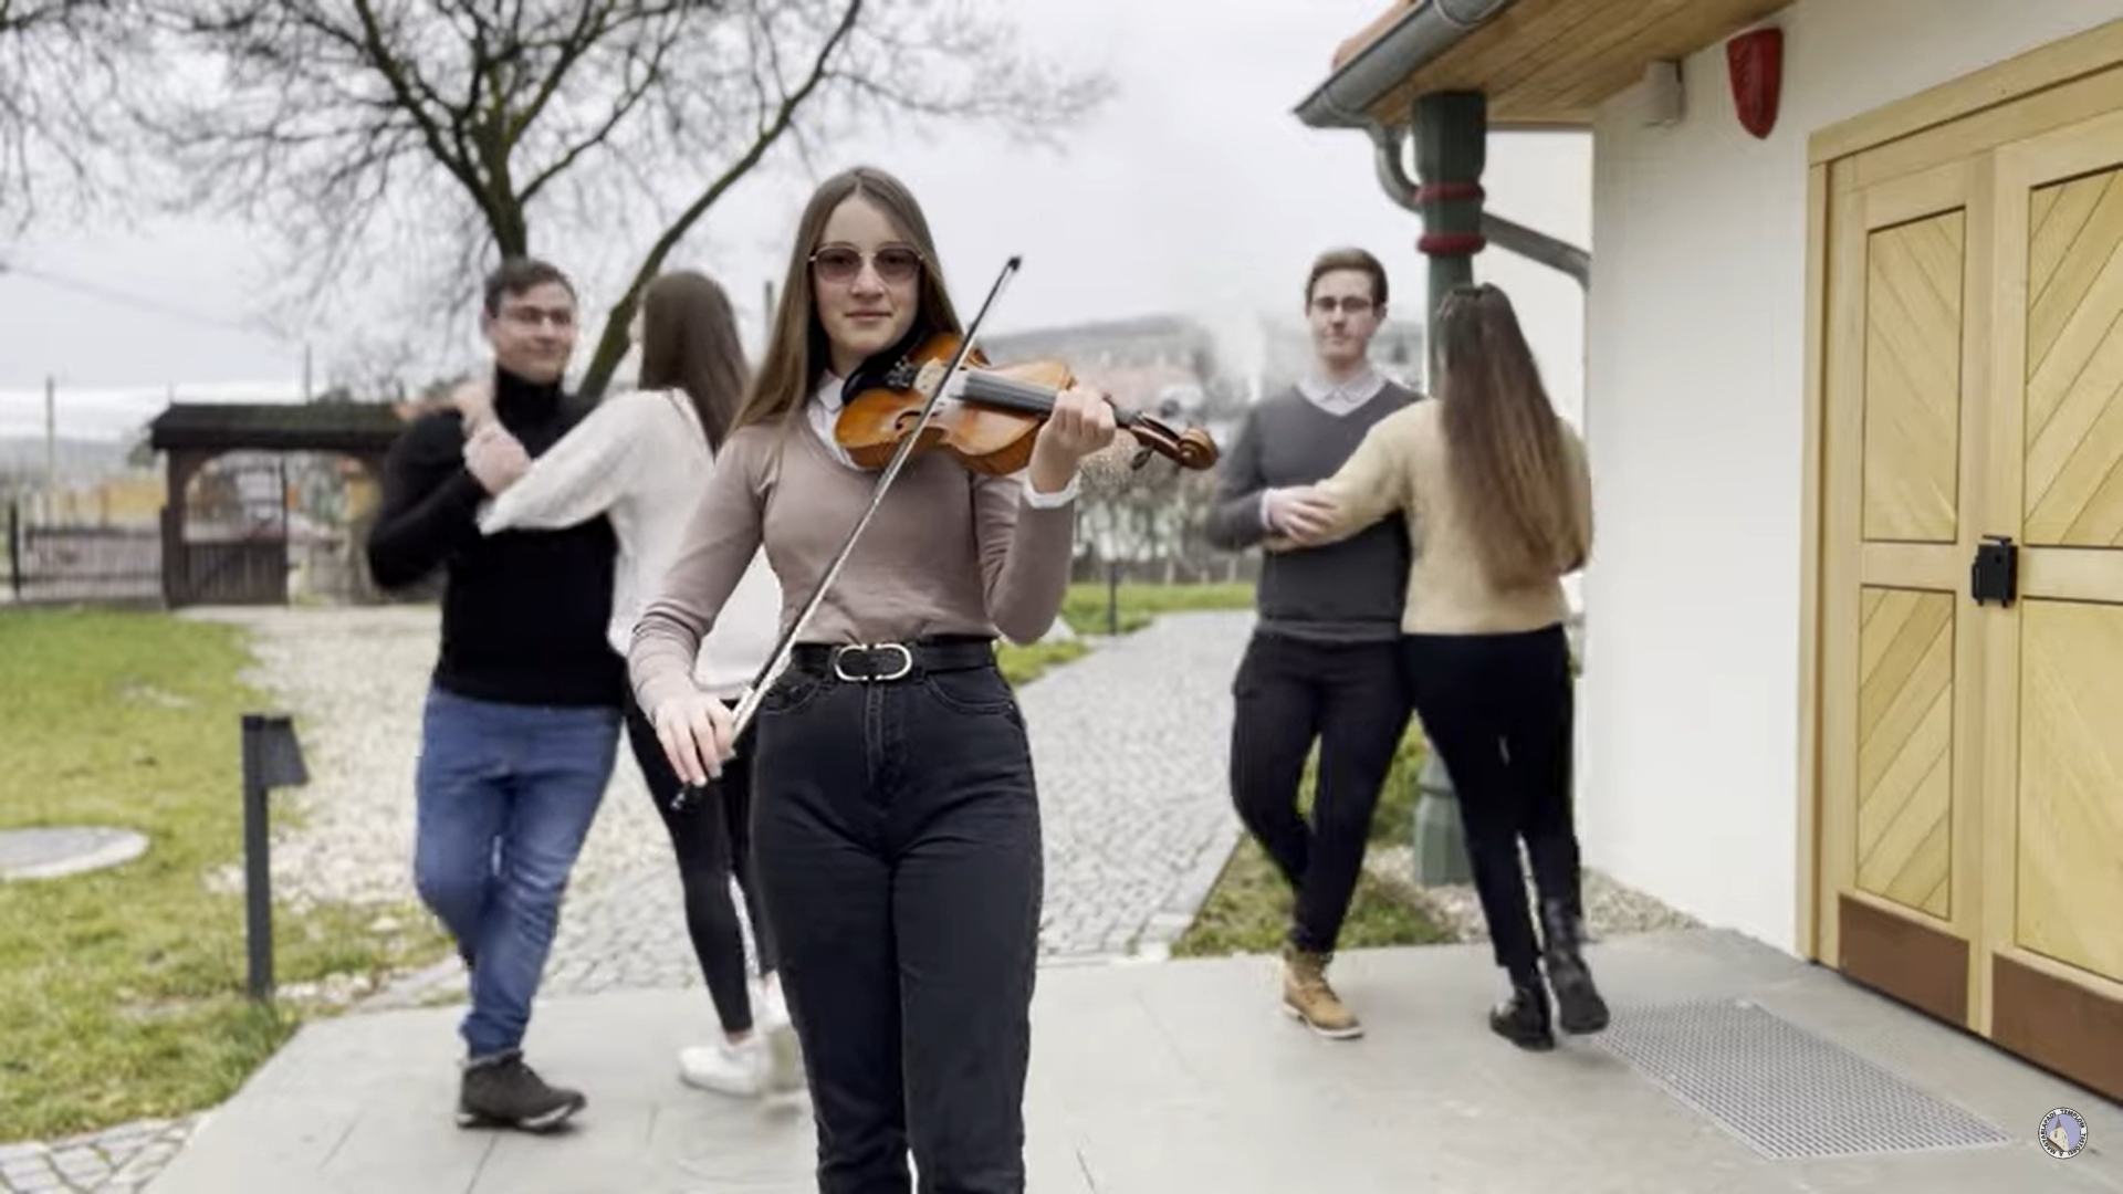
<svg viewBox="0 0 2123 1194"><path fill-rule="evenodd" d="M1613 100L1592 149L1580 686L1588 863L1794 950L1807 136L2123 17L2123 0L1800 0L1777 127L1724 45L1686 115Z"/></svg>

